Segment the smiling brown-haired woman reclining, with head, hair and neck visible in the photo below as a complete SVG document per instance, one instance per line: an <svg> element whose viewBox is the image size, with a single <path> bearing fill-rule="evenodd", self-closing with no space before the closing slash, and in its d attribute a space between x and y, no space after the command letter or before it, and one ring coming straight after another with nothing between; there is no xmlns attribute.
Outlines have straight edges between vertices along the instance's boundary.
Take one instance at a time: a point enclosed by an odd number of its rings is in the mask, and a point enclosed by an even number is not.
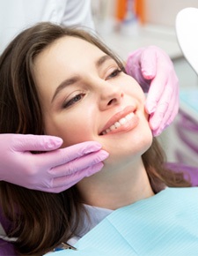
<svg viewBox="0 0 198 256"><path fill-rule="evenodd" d="M41 255L62 242L75 245L97 224L92 206L110 213L166 185L190 185L165 169L141 87L91 34L50 23L27 29L1 56L0 80L0 132L54 135L62 147L99 141L109 153L99 173L58 194L1 182L9 236L18 237L22 255Z"/></svg>

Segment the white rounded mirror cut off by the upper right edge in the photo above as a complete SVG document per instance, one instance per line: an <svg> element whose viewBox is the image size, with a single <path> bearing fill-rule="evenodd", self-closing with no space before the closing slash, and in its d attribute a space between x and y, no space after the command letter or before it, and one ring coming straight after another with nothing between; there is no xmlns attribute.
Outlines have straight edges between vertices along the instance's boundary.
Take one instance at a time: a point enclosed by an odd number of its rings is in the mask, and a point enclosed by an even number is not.
<svg viewBox="0 0 198 256"><path fill-rule="evenodd" d="M198 74L198 9L189 7L179 11L175 26L180 49Z"/></svg>

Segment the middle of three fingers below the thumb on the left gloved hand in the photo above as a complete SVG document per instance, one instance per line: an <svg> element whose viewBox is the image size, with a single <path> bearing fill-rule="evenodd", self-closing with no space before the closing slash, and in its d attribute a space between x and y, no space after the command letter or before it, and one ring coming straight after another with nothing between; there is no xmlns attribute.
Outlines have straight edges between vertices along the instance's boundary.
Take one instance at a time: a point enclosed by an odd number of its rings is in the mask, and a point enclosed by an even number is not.
<svg viewBox="0 0 198 256"><path fill-rule="evenodd" d="M67 162L66 164L62 164L54 169L50 169L48 172L52 175L52 177L69 177L74 173L80 173L82 169L92 167L95 164L104 161L108 155L109 154L105 150L99 150L99 152L86 154L73 161Z"/></svg>

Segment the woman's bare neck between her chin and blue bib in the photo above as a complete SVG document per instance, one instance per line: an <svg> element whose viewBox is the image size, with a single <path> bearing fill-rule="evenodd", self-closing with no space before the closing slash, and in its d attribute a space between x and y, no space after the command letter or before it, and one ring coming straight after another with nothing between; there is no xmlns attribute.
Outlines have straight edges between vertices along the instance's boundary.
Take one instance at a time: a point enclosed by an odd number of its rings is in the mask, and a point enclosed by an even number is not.
<svg viewBox="0 0 198 256"><path fill-rule="evenodd" d="M154 193L142 159L122 169L102 169L77 184L84 203L108 209L128 206Z"/></svg>

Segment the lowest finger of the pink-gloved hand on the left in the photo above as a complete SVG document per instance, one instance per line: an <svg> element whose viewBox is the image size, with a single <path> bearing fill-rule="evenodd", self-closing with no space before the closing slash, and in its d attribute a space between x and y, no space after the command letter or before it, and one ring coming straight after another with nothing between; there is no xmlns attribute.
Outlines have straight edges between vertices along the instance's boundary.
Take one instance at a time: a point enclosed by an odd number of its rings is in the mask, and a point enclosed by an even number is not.
<svg viewBox="0 0 198 256"><path fill-rule="evenodd" d="M59 188L59 190L62 190L62 188L68 189L72 185L77 184L80 180L82 180L84 177L90 177L93 174L99 172L104 166L103 162L98 162L92 166L87 167L86 169L82 169L79 172L71 174L69 177L56 177L53 181L53 187ZM68 182L70 180L70 183Z"/></svg>

